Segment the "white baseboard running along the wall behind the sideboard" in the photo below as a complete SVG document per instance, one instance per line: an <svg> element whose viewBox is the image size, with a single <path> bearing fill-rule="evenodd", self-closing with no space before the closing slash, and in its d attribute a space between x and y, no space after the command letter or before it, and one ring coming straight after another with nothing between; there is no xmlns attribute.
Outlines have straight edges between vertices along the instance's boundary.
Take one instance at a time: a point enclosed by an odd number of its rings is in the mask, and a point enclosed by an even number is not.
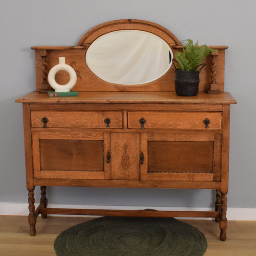
<svg viewBox="0 0 256 256"><path fill-rule="evenodd" d="M35 204L37 207L37 204ZM156 209L156 210L191 210L191 211L212 211L213 208L201 207L150 207L150 206L104 206L104 205L51 205L52 208L79 208L79 209L122 209L122 210L142 210L142 209ZM27 203L0 203L0 215L28 215ZM71 216L71 215L53 215L53 216ZM74 215L73 215L74 216ZM79 216L81 217L81 216ZM209 218L188 218L188 219L209 219ZM256 220L256 208L235 208L228 207L228 220Z"/></svg>

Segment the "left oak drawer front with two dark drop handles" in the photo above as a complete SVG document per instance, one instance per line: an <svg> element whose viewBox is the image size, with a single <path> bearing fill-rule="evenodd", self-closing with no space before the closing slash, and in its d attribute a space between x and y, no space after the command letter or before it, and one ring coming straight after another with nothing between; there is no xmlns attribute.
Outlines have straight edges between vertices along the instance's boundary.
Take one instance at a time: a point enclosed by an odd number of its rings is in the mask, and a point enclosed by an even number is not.
<svg viewBox="0 0 256 256"><path fill-rule="evenodd" d="M31 125L33 128L122 128L122 111L32 111Z"/></svg>

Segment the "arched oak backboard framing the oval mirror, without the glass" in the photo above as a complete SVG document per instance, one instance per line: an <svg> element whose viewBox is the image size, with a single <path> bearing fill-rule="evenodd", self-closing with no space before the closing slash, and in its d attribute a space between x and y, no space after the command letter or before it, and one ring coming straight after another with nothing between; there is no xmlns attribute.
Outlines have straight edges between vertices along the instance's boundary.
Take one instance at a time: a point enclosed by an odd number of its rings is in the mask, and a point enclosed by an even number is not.
<svg viewBox="0 0 256 256"><path fill-rule="evenodd" d="M66 58L66 64L73 67L77 74L77 82L73 87L76 91L91 92L174 92L175 68L171 68L163 76L155 81L142 85L118 85L106 82L96 76L85 62L86 51L89 46L100 36L118 30L141 30L157 35L162 38L172 49L173 54L181 51L184 46L180 41L166 28L148 21L123 19L99 24L89 30L78 42L77 46L71 47L32 47L36 50L36 79L37 91L47 92L51 90L48 84L47 76L49 70L58 64L59 57ZM200 73L199 92L224 91L224 60L225 46L212 46L218 49L217 55L208 56L205 60L206 67ZM218 77L218 84L217 84ZM59 84L66 84L69 80L67 73L59 72L56 74L56 81Z"/></svg>

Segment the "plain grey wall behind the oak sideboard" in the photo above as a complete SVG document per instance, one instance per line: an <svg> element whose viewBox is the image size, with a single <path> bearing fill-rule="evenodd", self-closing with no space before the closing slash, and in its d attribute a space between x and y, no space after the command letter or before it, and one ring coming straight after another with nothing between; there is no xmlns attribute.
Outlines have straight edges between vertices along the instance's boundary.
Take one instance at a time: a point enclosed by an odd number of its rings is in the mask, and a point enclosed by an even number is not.
<svg viewBox="0 0 256 256"><path fill-rule="evenodd" d="M35 90L34 45L76 45L89 29L110 20L148 20L180 41L227 45L225 90L231 106L229 207L255 200L255 0L1 0L0 202L27 202L22 105ZM37 192L38 195L38 192ZM54 204L209 207L212 191L49 188ZM38 199L38 198L37 198Z"/></svg>

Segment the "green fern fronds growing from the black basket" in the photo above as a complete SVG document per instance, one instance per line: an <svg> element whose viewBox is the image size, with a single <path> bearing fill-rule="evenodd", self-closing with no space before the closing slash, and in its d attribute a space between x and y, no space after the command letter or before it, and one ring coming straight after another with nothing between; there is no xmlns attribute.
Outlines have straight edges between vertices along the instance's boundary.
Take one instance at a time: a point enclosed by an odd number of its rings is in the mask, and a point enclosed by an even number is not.
<svg viewBox="0 0 256 256"><path fill-rule="evenodd" d="M175 61L177 61L177 68L183 71L197 71L198 66L207 57L208 54L216 51L207 45L198 46L198 41L193 44L191 39L187 41L186 47L183 48L183 52L175 53Z"/></svg>

